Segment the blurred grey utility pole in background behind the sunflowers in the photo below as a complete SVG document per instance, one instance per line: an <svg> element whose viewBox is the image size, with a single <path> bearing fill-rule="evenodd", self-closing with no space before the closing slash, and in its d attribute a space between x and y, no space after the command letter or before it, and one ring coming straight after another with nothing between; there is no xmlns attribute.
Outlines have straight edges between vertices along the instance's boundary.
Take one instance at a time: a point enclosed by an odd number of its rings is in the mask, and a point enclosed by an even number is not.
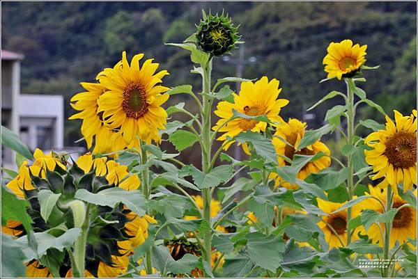
<svg viewBox="0 0 418 279"><path fill-rule="evenodd" d="M245 58L245 48L244 45L240 45L238 49L238 59L231 59L231 56L222 56L222 61L235 65L235 77L242 78L242 73L244 72L244 66L247 64L256 63L257 58L255 56L251 56L248 59ZM235 83L235 92L238 94L240 92L241 83ZM238 161L241 160L242 157L242 148L238 145L235 145L234 148L234 158ZM238 170L238 166L235 167L235 170ZM234 181L240 178L240 173L235 175Z"/></svg>

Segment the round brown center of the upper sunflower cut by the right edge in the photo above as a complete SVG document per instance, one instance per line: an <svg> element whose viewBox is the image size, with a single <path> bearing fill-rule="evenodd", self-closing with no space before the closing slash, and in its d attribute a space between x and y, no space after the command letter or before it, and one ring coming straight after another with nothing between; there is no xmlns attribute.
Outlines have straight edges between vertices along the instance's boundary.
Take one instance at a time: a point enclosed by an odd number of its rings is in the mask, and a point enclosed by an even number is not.
<svg viewBox="0 0 418 279"><path fill-rule="evenodd" d="M410 168L417 160L417 134L398 131L385 142L385 156L395 168Z"/></svg>

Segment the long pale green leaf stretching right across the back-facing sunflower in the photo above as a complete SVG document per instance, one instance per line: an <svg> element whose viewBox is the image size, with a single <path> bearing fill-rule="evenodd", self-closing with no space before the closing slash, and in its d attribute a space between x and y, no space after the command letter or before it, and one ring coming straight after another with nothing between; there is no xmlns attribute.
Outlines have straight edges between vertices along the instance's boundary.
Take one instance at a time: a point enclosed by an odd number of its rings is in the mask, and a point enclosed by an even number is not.
<svg viewBox="0 0 418 279"><path fill-rule="evenodd" d="M90 193L86 189L79 189L75 193L75 198L92 203L93 205L102 205L115 207L118 202L122 202L127 208L135 212L139 216L144 216L146 200L141 191L125 191L121 188L114 187L104 189L98 193Z"/></svg>

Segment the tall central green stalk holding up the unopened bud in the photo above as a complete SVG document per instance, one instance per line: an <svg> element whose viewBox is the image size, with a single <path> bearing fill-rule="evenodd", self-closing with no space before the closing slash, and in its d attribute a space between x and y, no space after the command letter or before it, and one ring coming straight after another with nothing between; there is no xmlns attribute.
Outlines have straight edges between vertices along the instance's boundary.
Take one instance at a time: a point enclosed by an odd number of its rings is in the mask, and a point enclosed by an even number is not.
<svg viewBox="0 0 418 279"><path fill-rule="evenodd" d="M210 135L210 114L213 98L210 94L210 74L212 72L212 59L203 69L203 111L202 111L202 170L203 173L210 172L211 161L211 135ZM212 199L210 188L203 189L203 218L210 224L210 200ZM212 232L207 230L203 232L203 258L210 262L210 251L212 250Z"/></svg>

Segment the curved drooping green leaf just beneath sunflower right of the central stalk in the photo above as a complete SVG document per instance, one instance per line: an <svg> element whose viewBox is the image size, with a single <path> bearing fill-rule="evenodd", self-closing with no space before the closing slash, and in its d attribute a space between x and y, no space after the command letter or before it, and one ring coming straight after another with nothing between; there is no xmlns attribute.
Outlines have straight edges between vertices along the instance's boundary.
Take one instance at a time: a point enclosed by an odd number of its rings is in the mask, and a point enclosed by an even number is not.
<svg viewBox="0 0 418 279"><path fill-rule="evenodd" d="M277 162L277 154L272 142L263 135L254 131L245 131L238 134L238 136L235 136L235 139L239 143L251 143L258 155L267 161Z"/></svg>

